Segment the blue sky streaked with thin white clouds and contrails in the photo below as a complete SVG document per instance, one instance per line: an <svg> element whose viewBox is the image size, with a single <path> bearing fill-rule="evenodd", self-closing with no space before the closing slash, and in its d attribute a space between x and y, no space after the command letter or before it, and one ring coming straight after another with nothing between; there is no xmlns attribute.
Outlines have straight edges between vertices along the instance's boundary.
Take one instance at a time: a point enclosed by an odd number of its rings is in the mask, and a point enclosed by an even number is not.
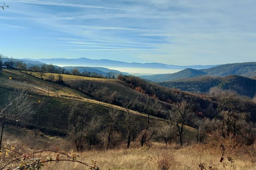
<svg viewBox="0 0 256 170"><path fill-rule="evenodd" d="M174 65L256 61L256 0L0 0L0 54Z"/></svg>

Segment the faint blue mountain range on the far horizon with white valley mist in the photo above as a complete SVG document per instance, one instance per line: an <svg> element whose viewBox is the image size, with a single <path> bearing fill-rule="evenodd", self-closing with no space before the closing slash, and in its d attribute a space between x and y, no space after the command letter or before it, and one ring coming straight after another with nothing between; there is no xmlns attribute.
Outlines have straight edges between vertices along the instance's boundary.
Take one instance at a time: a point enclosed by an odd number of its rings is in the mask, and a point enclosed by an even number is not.
<svg viewBox="0 0 256 170"><path fill-rule="evenodd" d="M216 65L168 65L161 63L128 63L115 60L107 59L87 59L87 58L78 58L78 59L65 59L65 58L53 58L53 59L26 59L32 61L44 62L47 64L61 65L61 66L86 66L86 67L125 67L125 68L152 68L152 69L176 69L183 70L185 68L194 68L194 69L205 69L211 68Z"/></svg>

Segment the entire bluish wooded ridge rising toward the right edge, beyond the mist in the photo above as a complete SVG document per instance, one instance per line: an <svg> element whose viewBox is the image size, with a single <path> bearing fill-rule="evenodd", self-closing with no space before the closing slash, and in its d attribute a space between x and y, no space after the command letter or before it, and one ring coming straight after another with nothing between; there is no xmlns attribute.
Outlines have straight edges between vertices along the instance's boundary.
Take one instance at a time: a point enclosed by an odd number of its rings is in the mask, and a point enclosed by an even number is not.
<svg viewBox="0 0 256 170"><path fill-rule="evenodd" d="M234 63L218 65L206 69L192 69L187 68L185 70L178 71L172 74L159 74L151 76L140 76L140 78L148 79L150 81L173 81L184 78L192 78L202 75L212 76L228 76L228 75L241 75L247 77L256 76L256 62Z"/></svg>

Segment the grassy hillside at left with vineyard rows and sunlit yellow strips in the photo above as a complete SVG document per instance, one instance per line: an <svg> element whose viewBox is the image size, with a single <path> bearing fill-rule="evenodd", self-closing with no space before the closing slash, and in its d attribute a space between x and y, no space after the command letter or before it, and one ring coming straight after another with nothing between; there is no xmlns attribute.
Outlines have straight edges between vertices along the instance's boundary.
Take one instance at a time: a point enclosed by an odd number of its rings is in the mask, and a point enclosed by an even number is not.
<svg viewBox="0 0 256 170"><path fill-rule="evenodd" d="M62 86L57 83L50 83L49 81L39 79L36 76L36 72L28 75L20 71L5 68L0 71L0 106L2 106L4 100L2 96L4 96L4 94L9 93L14 89L22 89L29 94L31 99L35 102L34 107L37 109L37 112L32 115L31 119L28 119L28 122L16 122L13 120L8 120L9 124L34 129L37 122L37 115L39 115L40 122L38 128L42 132L50 135L64 135L68 127L68 108L70 107L70 103L74 100L82 101L84 102L84 105L92 106L92 115L88 116L95 116L98 114L102 116L103 119L106 119L106 121L107 117L105 115L109 112L110 108L116 108L122 113L125 111L125 108L122 106L101 102L91 96L79 92L78 90ZM47 76L49 75L46 74L44 78L47 78ZM11 77L11 79L9 77ZM125 87L120 83L116 83L117 80L113 79L86 78L71 75L63 75L63 77L69 79L72 79L72 77L73 79L84 78L88 81L95 82L96 84L101 82L106 86L107 84L109 84L109 86L115 84L117 91L118 88L120 88L120 91L127 91L127 94L134 94L136 97L144 95ZM144 96L146 97L146 95ZM40 101L40 103L37 101ZM141 122L143 122L144 119L146 120L146 114L134 110L130 111L132 114L134 114L134 116L137 117L138 120L141 120ZM156 122L157 124L159 122L164 122L161 118L154 116L152 116L152 121ZM192 135L194 134L194 129L186 126L186 133L191 133Z"/></svg>

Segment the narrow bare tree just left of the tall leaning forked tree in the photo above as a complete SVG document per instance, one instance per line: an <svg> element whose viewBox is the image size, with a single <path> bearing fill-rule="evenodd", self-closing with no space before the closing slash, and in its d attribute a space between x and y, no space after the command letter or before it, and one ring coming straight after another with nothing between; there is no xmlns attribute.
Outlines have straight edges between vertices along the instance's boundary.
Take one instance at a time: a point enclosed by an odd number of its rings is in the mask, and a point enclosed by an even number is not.
<svg viewBox="0 0 256 170"><path fill-rule="evenodd" d="M112 133L117 122L117 118L120 115L120 111L114 108L111 108L108 113L109 121L107 123L107 149L112 140Z"/></svg>

